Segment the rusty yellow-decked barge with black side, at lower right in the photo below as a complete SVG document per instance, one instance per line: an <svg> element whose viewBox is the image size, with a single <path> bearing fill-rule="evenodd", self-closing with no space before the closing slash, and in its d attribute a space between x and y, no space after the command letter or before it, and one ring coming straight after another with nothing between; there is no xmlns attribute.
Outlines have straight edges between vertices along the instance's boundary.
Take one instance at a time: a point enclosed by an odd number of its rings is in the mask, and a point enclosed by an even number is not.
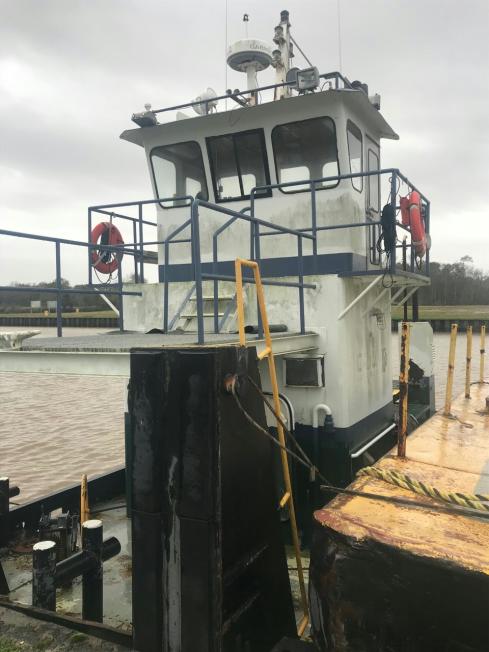
<svg viewBox="0 0 489 652"><path fill-rule="evenodd" d="M376 466L440 490L489 493L487 385L436 414ZM472 427L468 427L472 426ZM489 649L489 523L436 512L436 502L362 476L355 490L422 502L426 509L338 496L314 514L311 611L321 650Z"/></svg>

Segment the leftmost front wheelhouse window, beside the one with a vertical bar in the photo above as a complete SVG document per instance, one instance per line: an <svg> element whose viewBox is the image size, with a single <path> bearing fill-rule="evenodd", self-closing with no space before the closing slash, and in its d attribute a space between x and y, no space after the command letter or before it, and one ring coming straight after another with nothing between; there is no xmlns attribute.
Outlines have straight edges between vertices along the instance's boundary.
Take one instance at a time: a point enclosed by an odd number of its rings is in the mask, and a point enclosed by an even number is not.
<svg viewBox="0 0 489 652"><path fill-rule="evenodd" d="M207 200L204 161L200 145L194 141L155 147L150 155L158 197L175 199L160 202L163 208L186 206L189 200L176 199L191 195Z"/></svg>

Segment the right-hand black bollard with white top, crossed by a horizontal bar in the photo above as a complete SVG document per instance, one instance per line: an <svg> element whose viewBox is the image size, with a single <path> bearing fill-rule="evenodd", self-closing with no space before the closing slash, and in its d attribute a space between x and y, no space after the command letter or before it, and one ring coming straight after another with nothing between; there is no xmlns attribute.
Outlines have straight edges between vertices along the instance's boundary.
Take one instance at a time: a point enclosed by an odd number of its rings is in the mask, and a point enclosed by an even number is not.
<svg viewBox="0 0 489 652"><path fill-rule="evenodd" d="M82 548L95 562L82 578L82 617L84 620L103 622L104 571L102 564L102 521L93 519L82 525Z"/></svg>

